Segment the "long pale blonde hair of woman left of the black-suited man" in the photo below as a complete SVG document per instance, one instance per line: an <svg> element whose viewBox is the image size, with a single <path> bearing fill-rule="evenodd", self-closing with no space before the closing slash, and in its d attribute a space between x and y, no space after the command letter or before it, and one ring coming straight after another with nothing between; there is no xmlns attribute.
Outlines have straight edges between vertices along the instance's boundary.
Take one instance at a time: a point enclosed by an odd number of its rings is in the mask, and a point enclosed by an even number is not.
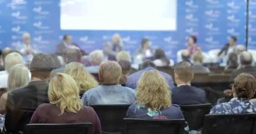
<svg viewBox="0 0 256 134"><path fill-rule="evenodd" d="M23 88L29 83L29 69L23 64L16 64L9 72L8 92Z"/></svg>

